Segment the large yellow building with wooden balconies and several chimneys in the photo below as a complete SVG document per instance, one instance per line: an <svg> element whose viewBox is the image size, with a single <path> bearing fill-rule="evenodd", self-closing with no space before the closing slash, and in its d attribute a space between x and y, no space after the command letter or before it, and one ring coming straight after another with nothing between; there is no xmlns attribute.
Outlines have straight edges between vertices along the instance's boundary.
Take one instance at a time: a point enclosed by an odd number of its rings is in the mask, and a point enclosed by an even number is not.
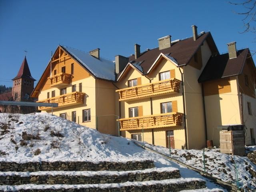
<svg viewBox="0 0 256 192"><path fill-rule="evenodd" d="M108 134L172 148L220 143L223 125L244 124L246 144L256 136L256 69L248 49L219 54L210 32L158 48L117 55L115 62L58 46L32 97L58 103L53 114ZM41 107L44 112L52 108ZM120 132L118 131L120 130Z"/></svg>

